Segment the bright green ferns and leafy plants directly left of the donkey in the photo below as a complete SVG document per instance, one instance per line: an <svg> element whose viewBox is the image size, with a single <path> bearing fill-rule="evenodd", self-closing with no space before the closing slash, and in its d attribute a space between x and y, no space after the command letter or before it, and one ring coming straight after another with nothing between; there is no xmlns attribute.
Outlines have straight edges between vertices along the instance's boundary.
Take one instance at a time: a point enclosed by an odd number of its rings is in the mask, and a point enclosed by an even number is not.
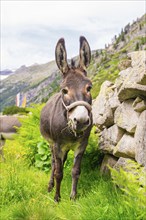
<svg viewBox="0 0 146 220"><path fill-rule="evenodd" d="M40 133L40 112L43 105L33 105L29 108L31 114L20 119L22 126L18 128L17 140L28 149L25 157L30 165L48 171L50 162L49 145Z"/></svg>

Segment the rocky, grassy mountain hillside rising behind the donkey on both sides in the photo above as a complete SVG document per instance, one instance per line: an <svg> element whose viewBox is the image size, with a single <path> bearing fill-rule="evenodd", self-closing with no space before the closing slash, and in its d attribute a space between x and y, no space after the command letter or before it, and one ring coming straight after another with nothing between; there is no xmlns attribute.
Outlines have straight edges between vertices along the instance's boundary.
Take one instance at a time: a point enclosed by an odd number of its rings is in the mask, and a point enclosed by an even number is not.
<svg viewBox="0 0 146 220"><path fill-rule="evenodd" d="M146 49L146 15L127 24L119 36L114 36L112 43L105 45L105 49L92 51L92 61L88 68L93 81L92 95L98 95L103 81L114 81L119 71L130 65L127 53ZM77 60L78 57L74 59ZM27 104L46 101L52 93L59 90L61 74L55 61L42 65L21 66L14 74L3 80L0 85L0 111L5 106L15 104L18 92L27 93Z"/></svg>

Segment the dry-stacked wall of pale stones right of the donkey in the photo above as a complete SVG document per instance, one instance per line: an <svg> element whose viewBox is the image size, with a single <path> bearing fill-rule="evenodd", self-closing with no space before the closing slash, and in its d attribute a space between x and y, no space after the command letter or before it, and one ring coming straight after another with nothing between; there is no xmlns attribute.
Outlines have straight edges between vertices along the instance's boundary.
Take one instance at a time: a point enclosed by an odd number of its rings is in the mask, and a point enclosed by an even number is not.
<svg viewBox="0 0 146 220"><path fill-rule="evenodd" d="M99 148L105 153L101 171L122 166L127 158L146 167L146 53L128 54L131 66L115 83L105 81L93 103Z"/></svg>

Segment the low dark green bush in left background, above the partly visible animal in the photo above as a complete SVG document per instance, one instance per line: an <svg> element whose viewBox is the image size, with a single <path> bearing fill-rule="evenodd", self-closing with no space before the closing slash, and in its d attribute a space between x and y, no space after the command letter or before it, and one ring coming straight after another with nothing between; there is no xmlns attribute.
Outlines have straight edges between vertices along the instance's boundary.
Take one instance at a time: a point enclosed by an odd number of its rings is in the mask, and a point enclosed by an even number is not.
<svg viewBox="0 0 146 220"><path fill-rule="evenodd" d="M29 110L18 106L9 106L3 110L3 115L27 114Z"/></svg>

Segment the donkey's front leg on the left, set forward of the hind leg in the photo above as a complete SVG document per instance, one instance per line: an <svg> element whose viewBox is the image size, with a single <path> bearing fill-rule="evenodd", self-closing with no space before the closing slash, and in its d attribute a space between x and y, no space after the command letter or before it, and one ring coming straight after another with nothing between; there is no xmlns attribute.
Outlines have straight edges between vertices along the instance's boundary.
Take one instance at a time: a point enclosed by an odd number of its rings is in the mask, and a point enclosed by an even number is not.
<svg viewBox="0 0 146 220"><path fill-rule="evenodd" d="M61 150L60 146L58 144L55 144L54 146L54 158L55 158L55 179L56 179L56 193L54 200L56 202L59 202L61 196L60 196L60 186L61 181L63 179L63 163L61 159Z"/></svg>

